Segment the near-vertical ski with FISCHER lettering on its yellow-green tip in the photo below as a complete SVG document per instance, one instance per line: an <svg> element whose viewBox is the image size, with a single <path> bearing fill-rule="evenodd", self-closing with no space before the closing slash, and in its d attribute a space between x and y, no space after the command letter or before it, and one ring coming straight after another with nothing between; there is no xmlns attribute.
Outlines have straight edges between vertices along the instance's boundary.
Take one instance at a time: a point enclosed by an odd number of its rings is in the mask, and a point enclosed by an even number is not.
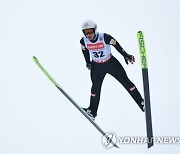
<svg viewBox="0 0 180 154"><path fill-rule="evenodd" d="M147 54L146 54L146 48L145 48L144 35L142 31L137 32L137 38L139 42L139 51L140 51L142 77L143 77L148 148L150 148L153 146L154 143L153 143L153 129L152 129L152 118L151 118Z"/></svg>

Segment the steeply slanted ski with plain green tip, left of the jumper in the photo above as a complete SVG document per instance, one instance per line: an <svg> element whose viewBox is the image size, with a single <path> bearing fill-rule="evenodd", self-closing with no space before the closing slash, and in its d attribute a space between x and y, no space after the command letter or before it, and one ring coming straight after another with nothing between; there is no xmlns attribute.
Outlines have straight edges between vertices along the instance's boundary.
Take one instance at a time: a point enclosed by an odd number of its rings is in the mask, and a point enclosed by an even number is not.
<svg viewBox="0 0 180 154"><path fill-rule="evenodd" d="M46 69L41 65L39 60L33 56L34 62L37 64L37 66L42 70L42 72L48 77L48 79L53 83L53 85L86 117L87 120L107 139L109 137L106 135L106 133L88 116L88 114L63 90L63 88L52 78L52 76L46 71ZM111 140L111 139L110 139ZM116 143L114 143L112 140L110 141L111 144L119 148Z"/></svg>

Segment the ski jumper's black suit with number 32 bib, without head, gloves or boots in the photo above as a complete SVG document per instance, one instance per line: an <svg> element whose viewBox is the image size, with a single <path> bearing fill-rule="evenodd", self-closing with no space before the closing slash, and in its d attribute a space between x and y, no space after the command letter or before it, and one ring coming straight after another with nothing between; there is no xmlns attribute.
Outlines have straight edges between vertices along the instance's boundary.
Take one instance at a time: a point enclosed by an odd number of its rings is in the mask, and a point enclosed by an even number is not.
<svg viewBox="0 0 180 154"><path fill-rule="evenodd" d="M125 57L127 53L120 44L111 35L106 33L98 33L94 41L83 37L80 43L86 64L91 64L92 88L89 109L92 111L92 114L94 116L97 114L101 86L107 73L116 78L124 86L142 110L141 102L143 98L136 86L129 80L123 66L111 53L112 45Z"/></svg>

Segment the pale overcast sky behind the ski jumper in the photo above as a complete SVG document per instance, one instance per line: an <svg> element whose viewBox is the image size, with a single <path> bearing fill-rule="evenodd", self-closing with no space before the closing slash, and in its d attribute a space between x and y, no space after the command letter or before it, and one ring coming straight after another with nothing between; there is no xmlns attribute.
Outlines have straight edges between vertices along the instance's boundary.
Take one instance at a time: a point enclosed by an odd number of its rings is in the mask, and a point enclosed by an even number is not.
<svg viewBox="0 0 180 154"><path fill-rule="evenodd" d="M0 0L1 154L178 154L179 144L121 144L105 149L101 134L48 81L32 61L39 58L64 90L89 105L91 80L81 52L82 23L94 20L136 58L126 65L143 94L136 33L148 54L154 136L180 136L178 0ZM146 136L145 116L126 90L107 75L96 122L117 136Z"/></svg>

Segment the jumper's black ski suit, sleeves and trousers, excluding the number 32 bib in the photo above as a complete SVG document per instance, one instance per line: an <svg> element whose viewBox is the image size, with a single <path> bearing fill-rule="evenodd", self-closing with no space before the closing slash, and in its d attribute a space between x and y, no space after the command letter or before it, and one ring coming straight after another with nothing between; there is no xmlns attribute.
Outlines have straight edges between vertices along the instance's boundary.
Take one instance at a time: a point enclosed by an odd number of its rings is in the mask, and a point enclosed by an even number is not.
<svg viewBox="0 0 180 154"><path fill-rule="evenodd" d="M98 36L91 42L96 43L97 39ZM124 58L129 59L130 55L123 50L120 44L111 35L104 33L104 42L105 44L114 46L116 50L122 54L122 56L124 56ZM87 46L85 45L84 38L80 40L80 43L86 61L86 66L91 70L92 88L89 109L91 110L93 116L95 117L97 115L101 86L107 73L116 78L124 86L124 88L129 92L129 94L143 111L143 106L141 105L143 98L141 97L136 86L129 80L120 62L114 56L112 56L112 54L109 59L107 59L107 61L105 60L105 62L95 62L93 60L91 62L90 53L87 49Z"/></svg>

